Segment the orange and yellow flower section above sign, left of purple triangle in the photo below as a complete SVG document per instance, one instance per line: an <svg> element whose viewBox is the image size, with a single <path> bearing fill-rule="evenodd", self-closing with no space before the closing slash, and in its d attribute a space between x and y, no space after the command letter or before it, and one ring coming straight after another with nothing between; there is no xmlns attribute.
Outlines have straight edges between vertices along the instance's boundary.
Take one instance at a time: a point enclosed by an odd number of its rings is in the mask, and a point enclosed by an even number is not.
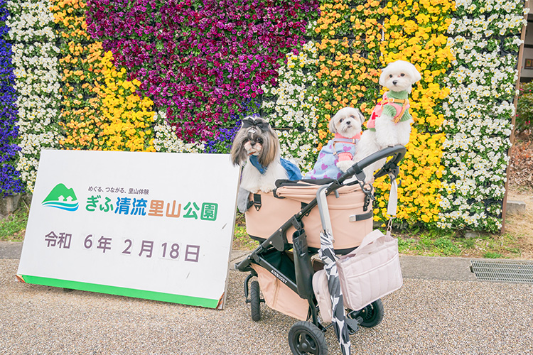
<svg viewBox="0 0 533 355"><path fill-rule="evenodd" d="M61 46L63 148L155 151L153 102L135 94L140 82L125 79L102 43L90 42L84 1L53 0L50 10Z"/></svg>

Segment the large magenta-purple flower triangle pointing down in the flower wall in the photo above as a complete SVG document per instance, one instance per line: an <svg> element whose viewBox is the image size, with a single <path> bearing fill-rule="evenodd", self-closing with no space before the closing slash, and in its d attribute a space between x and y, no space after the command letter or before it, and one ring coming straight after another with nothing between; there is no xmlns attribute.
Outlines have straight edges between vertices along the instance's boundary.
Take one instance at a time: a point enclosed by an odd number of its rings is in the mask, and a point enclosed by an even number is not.
<svg viewBox="0 0 533 355"><path fill-rule="evenodd" d="M192 142L237 124L317 15L318 0L90 0L87 25Z"/></svg>

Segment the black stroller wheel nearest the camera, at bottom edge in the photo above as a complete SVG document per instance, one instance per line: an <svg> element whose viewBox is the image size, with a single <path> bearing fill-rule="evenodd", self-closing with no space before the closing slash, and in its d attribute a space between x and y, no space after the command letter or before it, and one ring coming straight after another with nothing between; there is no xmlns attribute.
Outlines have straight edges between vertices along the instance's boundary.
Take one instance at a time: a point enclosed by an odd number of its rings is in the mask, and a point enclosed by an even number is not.
<svg viewBox="0 0 533 355"><path fill-rule="evenodd" d="M289 330L289 346L294 355L327 355L324 333L311 322L296 322Z"/></svg>

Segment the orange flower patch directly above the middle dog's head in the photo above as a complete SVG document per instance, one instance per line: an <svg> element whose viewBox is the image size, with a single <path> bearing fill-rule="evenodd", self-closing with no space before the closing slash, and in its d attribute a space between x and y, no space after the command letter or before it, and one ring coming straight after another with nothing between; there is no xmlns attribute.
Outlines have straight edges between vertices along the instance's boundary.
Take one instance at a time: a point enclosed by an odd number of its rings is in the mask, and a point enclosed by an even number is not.
<svg viewBox="0 0 533 355"><path fill-rule="evenodd" d="M347 1L321 5L315 33L323 38L318 48L315 96L318 97L318 138L320 149L332 138L330 118L343 107L357 107L370 114L379 94L379 40L383 9L379 1L366 1L353 8Z"/></svg>

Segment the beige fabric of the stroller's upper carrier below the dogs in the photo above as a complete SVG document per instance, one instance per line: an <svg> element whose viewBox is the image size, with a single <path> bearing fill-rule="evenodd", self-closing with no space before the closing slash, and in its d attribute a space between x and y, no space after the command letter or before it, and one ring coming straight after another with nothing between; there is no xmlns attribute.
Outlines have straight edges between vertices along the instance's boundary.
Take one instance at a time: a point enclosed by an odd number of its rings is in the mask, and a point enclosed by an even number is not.
<svg viewBox="0 0 533 355"><path fill-rule="evenodd" d="M274 197L272 192L267 194L261 192L259 194L261 195L261 208L257 210L252 206L245 213L247 233L263 239L269 238L276 228L301 210L302 203L308 204L316 197L319 187L321 186L303 181L298 182L298 186L278 187L276 195L285 197L283 199ZM333 247L335 250L355 248L361 243L363 237L372 231L373 219L370 217L357 222L350 222L350 220L355 220L357 215L371 214L372 204L370 203L367 210L363 211L365 193L359 185L344 186L338 192L338 198L334 194L328 196L330 219L333 225L333 236L335 236ZM250 194L249 198L253 200L253 194ZM322 224L318 208L312 209L308 216L303 217L302 222L308 246L319 249ZM295 230L291 228L287 231L289 243L292 243L292 234Z"/></svg>

